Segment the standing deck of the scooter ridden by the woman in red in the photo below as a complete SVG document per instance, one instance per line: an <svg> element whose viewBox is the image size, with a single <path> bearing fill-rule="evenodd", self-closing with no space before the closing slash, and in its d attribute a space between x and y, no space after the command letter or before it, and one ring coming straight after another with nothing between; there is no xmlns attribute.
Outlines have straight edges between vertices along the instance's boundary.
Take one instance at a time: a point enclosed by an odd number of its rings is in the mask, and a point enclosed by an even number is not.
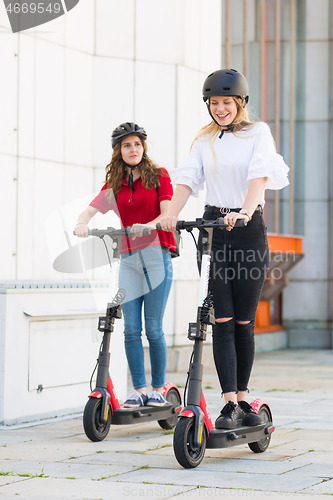
<svg viewBox="0 0 333 500"><path fill-rule="evenodd" d="M139 408L117 408L112 411L111 424L129 425L150 420L166 420L174 416L180 407L168 403L164 406L140 406Z"/></svg>

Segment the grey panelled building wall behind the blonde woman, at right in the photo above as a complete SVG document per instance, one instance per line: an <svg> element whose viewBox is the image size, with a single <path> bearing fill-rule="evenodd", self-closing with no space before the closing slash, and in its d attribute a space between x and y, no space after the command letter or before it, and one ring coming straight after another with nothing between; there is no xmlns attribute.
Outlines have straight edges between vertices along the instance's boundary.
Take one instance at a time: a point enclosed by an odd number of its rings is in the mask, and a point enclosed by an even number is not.
<svg viewBox="0 0 333 500"><path fill-rule="evenodd" d="M332 348L332 21L331 0L222 3L222 66L249 78L254 116L290 166L265 211L269 231L304 238L282 294L290 347Z"/></svg>

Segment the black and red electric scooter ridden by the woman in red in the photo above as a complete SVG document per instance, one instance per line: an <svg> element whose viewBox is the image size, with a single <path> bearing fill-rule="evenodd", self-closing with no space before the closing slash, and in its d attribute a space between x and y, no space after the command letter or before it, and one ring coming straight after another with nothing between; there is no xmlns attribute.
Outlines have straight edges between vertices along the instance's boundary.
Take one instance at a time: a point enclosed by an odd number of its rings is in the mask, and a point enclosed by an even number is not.
<svg viewBox="0 0 333 500"><path fill-rule="evenodd" d="M92 236L102 239L105 236L109 236L112 239L113 262L111 266L111 287L115 287L118 282L120 242L123 236L130 236L129 231L130 228L115 230L112 227L89 230L89 234ZM149 229L144 230L144 234L149 233ZM110 259L109 262L111 265ZM105 439L111 424L129 425L157 420L162 429L172 429L175 427L178 414L182 409L180 391L172 383L165 384L163 388L167 405L154 407L141 406L139 408L121 407L109 374L109 350L115 320L122 317L121 303L125 295L126 293L122 289L118 290L115 295L110 295L113 298L107 304L105 316L100 317L98 321L98 330L103 333L103 339L96 364L96 387L90 393L83 413L84 431L91 441L102 441Z"/></svg>

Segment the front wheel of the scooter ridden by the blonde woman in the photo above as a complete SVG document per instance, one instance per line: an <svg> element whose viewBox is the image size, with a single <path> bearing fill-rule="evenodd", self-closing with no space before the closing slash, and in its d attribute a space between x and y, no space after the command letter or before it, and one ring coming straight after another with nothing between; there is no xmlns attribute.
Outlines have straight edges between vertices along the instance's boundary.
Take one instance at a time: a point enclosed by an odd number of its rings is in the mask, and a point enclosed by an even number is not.
<svg viewBox="0 0 333 500"><path fill-rule="evenodd" d="M178 463L186 469L198 467L206 451L206 430L203 429L201 445L194 446L194 417L180 417L173 436L173 449Z"/></svg>

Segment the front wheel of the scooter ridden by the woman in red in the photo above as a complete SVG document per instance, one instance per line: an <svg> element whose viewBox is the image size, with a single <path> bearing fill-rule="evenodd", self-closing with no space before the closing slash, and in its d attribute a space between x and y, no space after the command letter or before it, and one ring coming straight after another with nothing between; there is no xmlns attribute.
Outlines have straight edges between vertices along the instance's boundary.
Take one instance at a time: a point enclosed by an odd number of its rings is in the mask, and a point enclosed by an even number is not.
<svg viewBox="0 0 333 500"><path fill-rule="evenodd" d="M111 413L106 422L101 421L102 398L89 398L83 412L84 432L91 441L103 441L111 425Z"/></svg>

